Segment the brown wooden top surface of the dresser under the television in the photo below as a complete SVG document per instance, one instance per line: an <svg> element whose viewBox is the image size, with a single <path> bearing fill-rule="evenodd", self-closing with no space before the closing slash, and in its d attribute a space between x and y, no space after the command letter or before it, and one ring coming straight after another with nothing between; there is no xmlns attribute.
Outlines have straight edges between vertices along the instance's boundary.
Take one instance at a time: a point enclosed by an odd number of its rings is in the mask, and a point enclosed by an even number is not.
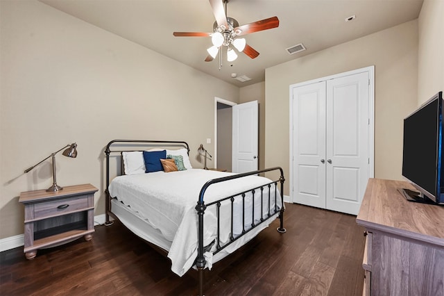
<svg viewBox="0 0 444 296"><path fill-rule="evenodd" d="M357 224L444 247L444 206L408 202L400 189L405 181L368 179Z"/></svg>

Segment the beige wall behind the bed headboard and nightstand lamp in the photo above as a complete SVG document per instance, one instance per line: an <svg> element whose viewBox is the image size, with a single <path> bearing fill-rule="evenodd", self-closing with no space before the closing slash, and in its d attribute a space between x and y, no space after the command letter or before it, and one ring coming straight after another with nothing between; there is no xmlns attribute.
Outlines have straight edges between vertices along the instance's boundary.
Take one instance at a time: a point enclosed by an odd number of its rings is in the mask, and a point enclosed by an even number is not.
<svg viewBox="0 0 444 296"><path fill-rule="evenodd" d="M56 156L57 181L99 188L100 215L108 141L186 140L199 166L214 97L239 101L239 88L44 3L0 6L0 239L24 232L20 192L51 186L50 161L23 173L51 152L77 142L77 158Z"/></svg>

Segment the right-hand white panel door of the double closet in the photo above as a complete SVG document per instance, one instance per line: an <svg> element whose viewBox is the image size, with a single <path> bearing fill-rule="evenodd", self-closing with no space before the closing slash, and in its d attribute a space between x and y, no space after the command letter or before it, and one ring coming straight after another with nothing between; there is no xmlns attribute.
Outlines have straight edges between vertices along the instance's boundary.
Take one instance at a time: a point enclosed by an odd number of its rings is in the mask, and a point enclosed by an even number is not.
<svg viewBox="0 0 444 296"><path fill-rule="evenodd" d="M327 81L327 209L357 215L368 181L368 72Z"/></svg>

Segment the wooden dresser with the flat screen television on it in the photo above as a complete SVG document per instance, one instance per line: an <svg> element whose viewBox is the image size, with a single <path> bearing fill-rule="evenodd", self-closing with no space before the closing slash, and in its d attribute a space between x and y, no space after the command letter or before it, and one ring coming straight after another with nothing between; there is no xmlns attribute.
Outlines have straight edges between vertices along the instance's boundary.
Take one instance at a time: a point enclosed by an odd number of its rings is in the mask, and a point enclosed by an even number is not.
<svg viewBox="0 0 444 296"><path fill-rule="evenodd" d="M404 181L369 179L357 216L366 229L364 295L444 295L444 206L407 202Z"/></svg>

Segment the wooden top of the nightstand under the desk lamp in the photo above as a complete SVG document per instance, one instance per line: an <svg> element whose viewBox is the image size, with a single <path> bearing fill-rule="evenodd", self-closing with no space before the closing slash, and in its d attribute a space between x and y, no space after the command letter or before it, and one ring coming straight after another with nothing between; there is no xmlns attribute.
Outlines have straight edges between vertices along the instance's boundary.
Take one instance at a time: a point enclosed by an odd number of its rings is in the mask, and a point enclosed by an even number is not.
<svg viewBox="0 0 444 296"><path fill-rule="evenodd" d="M74 195L85 195L87 193L96 192L98 189L91 184L82 184L74 186L65 186L62 190L56 192L48 192L45 189L33 190L20 193L19 202L27 204L30 202L39 202L49 199L60 199Z"/></svg>

